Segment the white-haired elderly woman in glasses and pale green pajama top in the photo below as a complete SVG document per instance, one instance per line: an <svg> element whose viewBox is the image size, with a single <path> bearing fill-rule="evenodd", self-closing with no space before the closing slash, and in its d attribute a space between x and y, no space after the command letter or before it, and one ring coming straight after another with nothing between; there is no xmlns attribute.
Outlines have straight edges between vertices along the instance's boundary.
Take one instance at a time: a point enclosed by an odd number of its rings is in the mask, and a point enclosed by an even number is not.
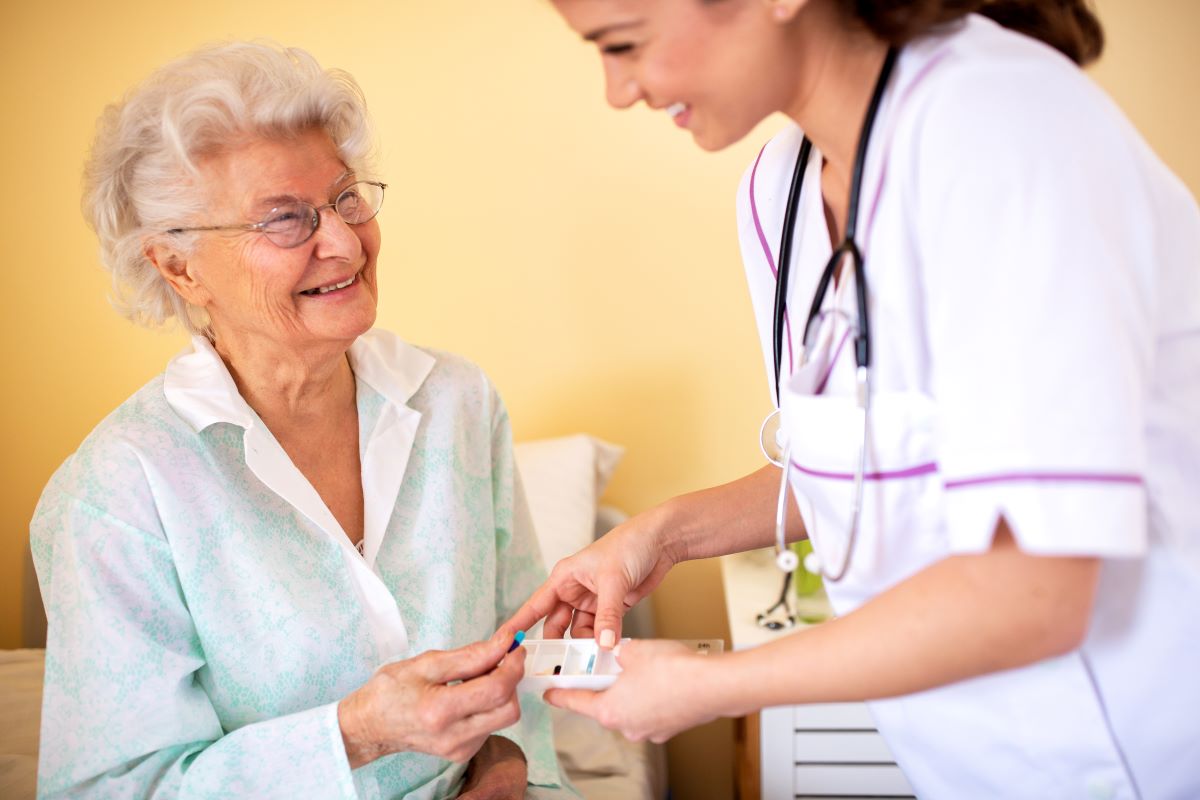
<svg viewBox="0 0 1200 800"><path fill-rule="evenodd" d="M101 120L116 305L193 337L34 517L40 795L575 796L488 639L544 577L504 408L372 330L370 143L352 78L260 44Z"/></svg>

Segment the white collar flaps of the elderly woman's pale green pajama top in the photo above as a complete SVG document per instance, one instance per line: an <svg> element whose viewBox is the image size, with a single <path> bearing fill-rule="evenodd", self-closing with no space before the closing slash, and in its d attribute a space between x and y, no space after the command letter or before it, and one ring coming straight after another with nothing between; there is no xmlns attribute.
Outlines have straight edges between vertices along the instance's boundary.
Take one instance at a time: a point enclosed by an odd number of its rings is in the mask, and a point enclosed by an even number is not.
<svg viewBox="0 0 1200 800"><path fill-rule="evenodd" d="M428 353L378 329L350 344L349 359L354 375L395 405L408 403L437 362ZM193 336L191 347L167 365L163 393L197 433L217 422L248 429L257 416L212 343L203 336Z"/></svg>

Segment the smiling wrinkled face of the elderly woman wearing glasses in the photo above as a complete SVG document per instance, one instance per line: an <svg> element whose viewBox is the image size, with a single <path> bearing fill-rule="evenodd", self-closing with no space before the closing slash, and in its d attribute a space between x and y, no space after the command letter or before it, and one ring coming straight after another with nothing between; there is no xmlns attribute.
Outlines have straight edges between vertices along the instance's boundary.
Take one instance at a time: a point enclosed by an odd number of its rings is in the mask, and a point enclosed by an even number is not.
<svg viewBox="0 0 1200 800"><path fill-rule="evenodd" d="M325 132L308 131L248 139L203 161L200 178L208 210L197 224L242 224L294 200L332 203L362 176L347 170ZM187 259L196 282L188 300L209 312L218 342L348 345L374 324L378 254L378 221L349 225L331 207L320 211L312 237L292 248L260 233L203 233ZM346 285L319 291L338 284Z"/></svg>

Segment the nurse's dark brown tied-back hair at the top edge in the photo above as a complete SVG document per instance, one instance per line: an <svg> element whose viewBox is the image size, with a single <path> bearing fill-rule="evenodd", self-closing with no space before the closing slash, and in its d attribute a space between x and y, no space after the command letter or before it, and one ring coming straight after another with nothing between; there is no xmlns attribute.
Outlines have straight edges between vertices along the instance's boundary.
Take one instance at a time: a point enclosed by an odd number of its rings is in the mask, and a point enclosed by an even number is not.
<svg viewBox="0 0 1200 800"><path fill-rule="evenodd" d="M972 12L1040 40L1080 66L1099 58L1104 29L1087 0L836 0L889 44L904 44Z"/></svg>

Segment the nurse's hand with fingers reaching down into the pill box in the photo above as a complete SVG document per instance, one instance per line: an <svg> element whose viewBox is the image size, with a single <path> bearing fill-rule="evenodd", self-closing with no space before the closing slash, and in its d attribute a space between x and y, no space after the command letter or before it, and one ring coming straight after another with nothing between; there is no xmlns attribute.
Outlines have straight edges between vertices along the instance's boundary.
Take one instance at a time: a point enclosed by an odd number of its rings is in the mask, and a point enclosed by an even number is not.
<svg viewBox="0 0 1200 800"><path fill-rule="evenodd" d="M659 531L658 509L617 525L575 555L554 565L550 578L500 628L511 637L546 618L542 636L570 630L577 639L596 637L602 648L620 640L620 619L683 560Z"/></svg>

